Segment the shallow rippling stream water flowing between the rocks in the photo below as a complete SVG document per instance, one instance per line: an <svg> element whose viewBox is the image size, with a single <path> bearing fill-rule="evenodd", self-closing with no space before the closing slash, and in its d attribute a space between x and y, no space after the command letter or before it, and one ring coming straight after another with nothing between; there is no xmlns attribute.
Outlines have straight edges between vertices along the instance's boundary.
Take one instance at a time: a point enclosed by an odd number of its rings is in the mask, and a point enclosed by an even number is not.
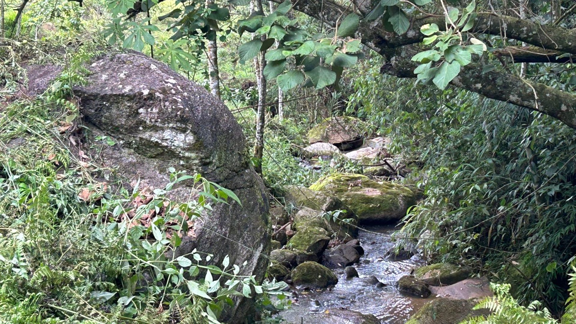
<svg viewBox="0 0 576 324"><path fill-rule="evenodd" d="M391 235L393 226L372 226L365 229ZM414 312L418 311L430 299L420 299L402 295L395 287L396 281L410 272L415 266L425 262L418 256L406 261L388 261L384 254L394 243L390 238L360 231L358 239L364 249L360 262L354 265L359 278L346 280L342 271L338 274L338 284L331 289L313 289L310 291L295 291L292 306L279 315L287 323L300 323L301 316L308 312L324 312L329 308L346 308L359 311L362 314L376 316L382 324L404 324ZM369 262L367 261L369 260ZM378 288L370 283L369 278L375 276L385 284Z"/></svg>

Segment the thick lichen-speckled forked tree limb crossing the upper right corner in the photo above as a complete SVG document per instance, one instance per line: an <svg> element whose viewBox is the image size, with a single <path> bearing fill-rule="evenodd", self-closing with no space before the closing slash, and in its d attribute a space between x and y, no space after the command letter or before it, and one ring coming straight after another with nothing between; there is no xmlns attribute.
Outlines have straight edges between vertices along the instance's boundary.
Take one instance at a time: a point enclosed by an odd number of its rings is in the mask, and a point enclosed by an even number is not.
<svg viewBox="0 0 576 324"><path fill-rule="evenodd" d="M282 2L282 0L272 0ZM294 9L311 17L317 18L328 25L334 26L336 22L351 12L330 0L298 1ZM365 11L358 7L359 10ZM540 26L530 21L507 16L484 15L479 18L475 30L483 30L492 35L503 35L526 43L536 43L539 46L552 50L563 50L576 54L576 30L565 28ZM427 17L413 21L411 28L404 35L395 35L373 25L362 23L358 28L358 36L362 43L383 55L388 62L382 66L381 71L397 77L415 77L414 69L418 63L411 58L422 49L411 44L422 41L424 35L419 32L420 26L436 22L439 27L444 26L444 17ZM574 34L574 35L573 35ZM554 41L552 40L554 39ZM552 47L552 48L549 48ZM544 51L544 50L543 50ZM451 82L458 88L479 93L488 98L505 101L517 106L542 112L559 119L567 126L576 129L576 96L560 91L550 86L523 80L507 73L494 71L482 73L482 66L470 64L460 71L460 74Z"/></svg>

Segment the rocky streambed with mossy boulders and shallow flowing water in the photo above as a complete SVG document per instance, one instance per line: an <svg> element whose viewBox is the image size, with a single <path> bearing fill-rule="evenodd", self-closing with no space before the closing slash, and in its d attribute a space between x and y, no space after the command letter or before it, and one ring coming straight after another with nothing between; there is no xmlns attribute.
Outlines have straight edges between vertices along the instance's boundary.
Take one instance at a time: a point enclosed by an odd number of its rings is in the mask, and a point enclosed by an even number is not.
<svg viewBox="0 0 576 324"><path fill-rule="evenodd" d="M385 138L369 138L358 119L325 119L309 132L301 152L316 160L355 161L363 174L329 172L309 187L286 186L283 208L271 209L272 251L268 278L291 286L292 305L276 318L300 324L457 324L470 316L488 282L468 269L426 265L418 243L394 249L396 224L420 193L392 166ZM398 181L395 181L398 180ZM286 213L290 210L290 213Z"/></svg>

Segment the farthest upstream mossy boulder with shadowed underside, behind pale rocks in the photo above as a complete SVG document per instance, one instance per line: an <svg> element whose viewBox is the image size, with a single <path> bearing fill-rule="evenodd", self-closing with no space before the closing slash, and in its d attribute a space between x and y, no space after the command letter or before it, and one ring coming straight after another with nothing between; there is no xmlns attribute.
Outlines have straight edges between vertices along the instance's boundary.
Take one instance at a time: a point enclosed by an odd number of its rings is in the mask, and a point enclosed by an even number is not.
<svg viewBox="0 0 576 324"><path fill-rule="evenodd" d="M373 127L362 120L350 116L338 116L324 119L308 131L310 144L327 142L343 150L358 148L364 137Z"/></svg>

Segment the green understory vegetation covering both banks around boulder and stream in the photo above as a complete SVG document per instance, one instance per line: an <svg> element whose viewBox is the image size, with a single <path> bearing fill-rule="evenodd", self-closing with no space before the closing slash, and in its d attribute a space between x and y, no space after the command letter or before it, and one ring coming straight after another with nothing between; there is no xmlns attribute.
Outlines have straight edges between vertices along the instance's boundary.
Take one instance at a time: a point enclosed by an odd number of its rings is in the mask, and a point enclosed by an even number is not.
<svg viewBox="0 0 576 324"><path fill-rule="evenodd" d="M547 52L550 62L507 62L495 50L525 46L524 40L463 31L471 13L488 10L491 2L449 1L467 11L446 15L433 11L434 2L414 2L383 0L366 11L334 1L354 13L321 23L293 2L274 1L271 9L264 2L263 9L262 1L249 8L242 5L251 1L3 0L0 323L219 323L242 296L254 297L260 311L247 322L274 322L270 315L287 307L285 282L241 276L245 265L228 257L213 263L214 256L200 249L174 254L181 233L192 231L215 204L239 202L232 191L175 168L163 189L128 191L112 180L113 167L88 163L82 150L116 145L82 125L73 86L88 82L90 59L137 50L214 93L209 41L218 43L218 96L254 146L247 155L275 204L293 207L283 201L285 186L363 174L370 164L346 157L310 163L302 156L312 127L325 118L357 117L365 133L390 140L386 153L395 174L377 180L415 187L420 195L394 235L397 246L416 245L430 263L465 265L493 282L495 296L477 306L492 314L463 323L576 322L574 125L542 110L536 99L536 107L489 99L458 84L468 76L458 76L465 66L480 65L478 79L509 73L536 97L574 96L571 52ZM565 16L533 1L516 1L512 9L497 2L498 14L530 7L542 25L576 30L570 1L552 1ZM408 14L418 12L452 20L442 30L423 25L431 38L404 54L418 76L383 73L393 60L361 44L363 19L396 17L384 24L386 33L400 37L413 25ZM355 13L363 14L361 22ZM290 39L281 44L285 35ZM427 52L433 45L434 53ZM423 52L428 56L418 56ZM450 55L458 59L449 62ZM63 67L48 90L17 96L31 81L25 68L47 64ZM456 65L457 73L447 70ZM558 92L536 93L540 84ZM400 174L403 168L410 172ZM193 183L195 198L172 201L170 190L182 181Z"/></svg>

